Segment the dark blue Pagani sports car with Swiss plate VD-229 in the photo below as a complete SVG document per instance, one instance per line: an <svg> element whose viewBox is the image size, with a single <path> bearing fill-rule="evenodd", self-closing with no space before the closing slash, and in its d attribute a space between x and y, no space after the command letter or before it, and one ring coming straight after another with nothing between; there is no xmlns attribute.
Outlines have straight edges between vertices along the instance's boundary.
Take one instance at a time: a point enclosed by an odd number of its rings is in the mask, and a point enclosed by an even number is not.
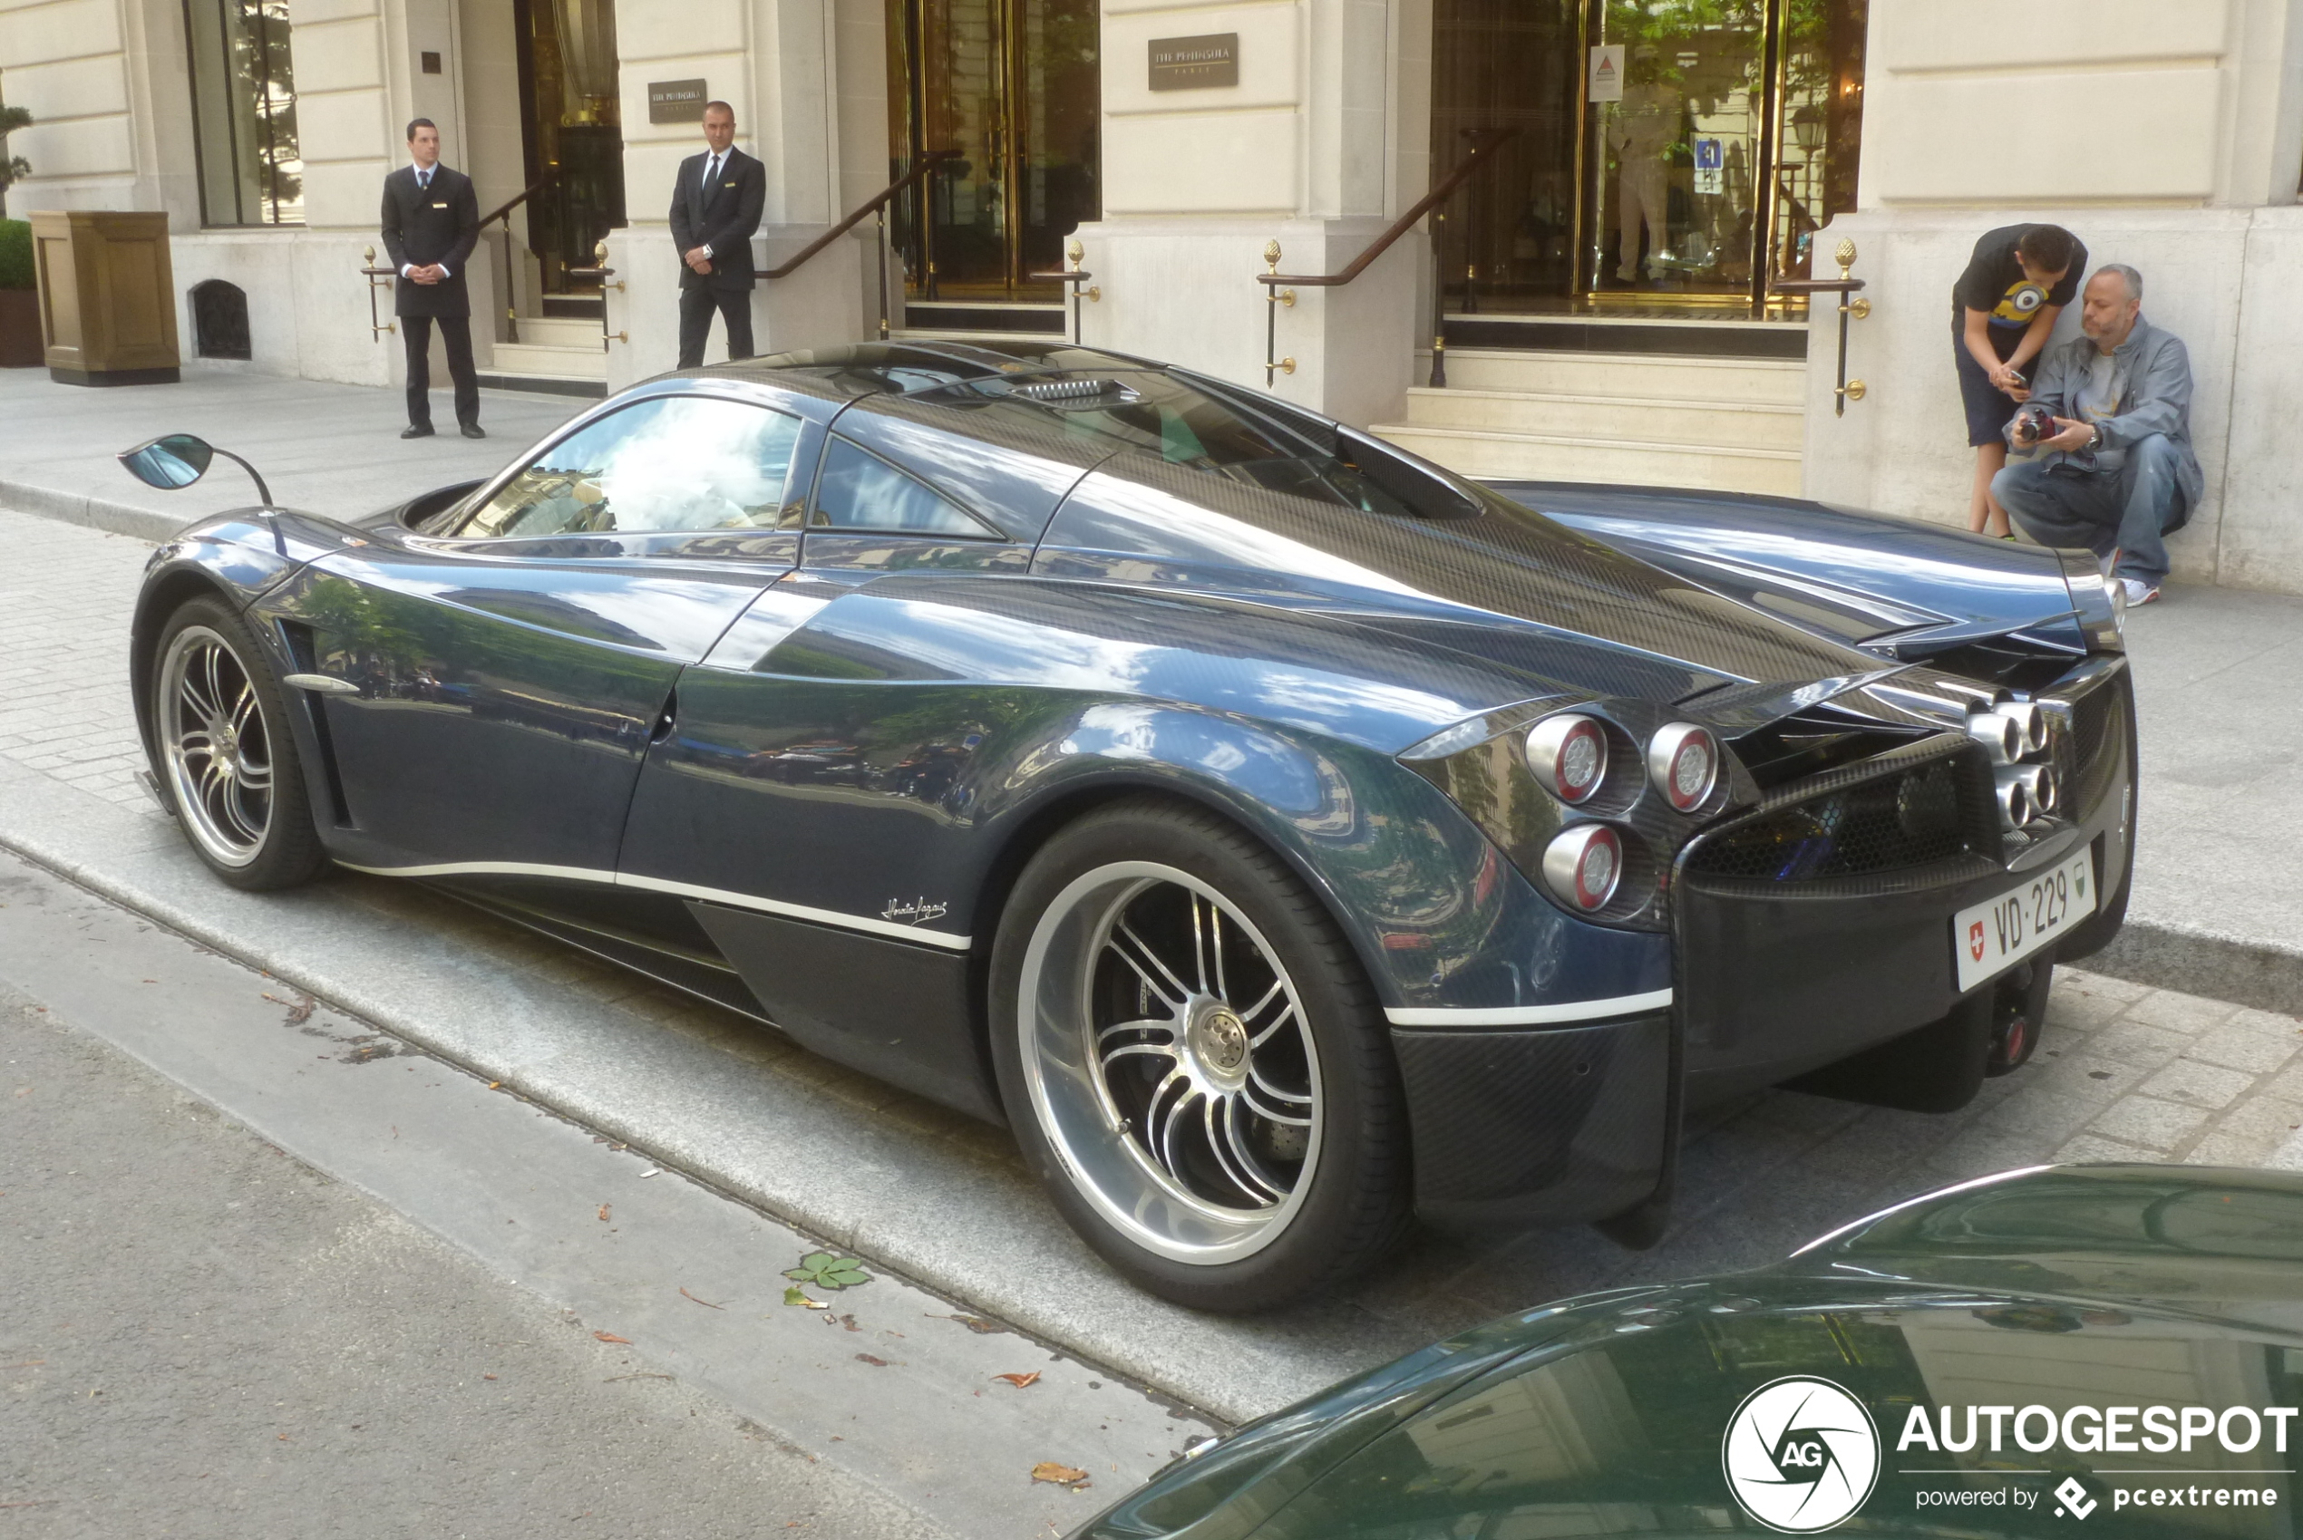
<svg viewBox="0 0 2303 1540"><path fill-rule="evenodd" d="M1958 1107L2135 822L2084 552L1476 486L1064 345L670 375L205 520L134 677L226 882L426 879L1004 1119L1225 1310L1409 1215L1651 1241L1723 1096Z"/></svg>

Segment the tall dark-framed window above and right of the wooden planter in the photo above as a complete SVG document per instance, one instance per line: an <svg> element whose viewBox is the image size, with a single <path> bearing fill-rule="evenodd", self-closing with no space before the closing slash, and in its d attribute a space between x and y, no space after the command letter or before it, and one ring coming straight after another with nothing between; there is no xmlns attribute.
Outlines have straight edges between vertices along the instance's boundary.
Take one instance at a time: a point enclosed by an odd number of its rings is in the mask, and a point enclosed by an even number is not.
<svg viewBox="0 0 2303 1540"><path fill-rule="evenodd" d="M288 0L184 0L200 219L304 223Z"/></svg>

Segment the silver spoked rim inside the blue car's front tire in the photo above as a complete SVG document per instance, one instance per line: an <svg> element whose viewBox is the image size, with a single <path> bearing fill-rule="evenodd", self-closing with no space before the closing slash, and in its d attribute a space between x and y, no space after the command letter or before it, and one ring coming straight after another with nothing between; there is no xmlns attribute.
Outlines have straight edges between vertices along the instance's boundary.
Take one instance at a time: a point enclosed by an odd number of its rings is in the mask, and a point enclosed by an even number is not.
<svg viewBox="0 0 2303 1540"><path fill-rule="evenodd" d="M272 829L272 725L233 647L184 626L161 658L154 730L184 826L221 866L246 866Z"/></svg>

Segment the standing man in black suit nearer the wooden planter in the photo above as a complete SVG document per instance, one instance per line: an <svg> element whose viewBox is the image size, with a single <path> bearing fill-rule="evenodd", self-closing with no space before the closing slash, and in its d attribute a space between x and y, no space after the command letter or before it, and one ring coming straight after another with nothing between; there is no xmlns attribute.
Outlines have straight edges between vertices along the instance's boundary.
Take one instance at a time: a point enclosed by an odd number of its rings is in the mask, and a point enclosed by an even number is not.
<svg viewBox="0 0 2303 1540"><path fill-rule="evenodd" d="M447 373L456 382L456 424L465 437L479 428L479 375L472 373L472 295L463 285L479 244L479 200L472 177L440 163L440 129L431 117L408 124L410 166L385 177L385 251L401 281L392 313L408 348L408 428L401 437L431 437L431 327L440 322Z"/></svg>

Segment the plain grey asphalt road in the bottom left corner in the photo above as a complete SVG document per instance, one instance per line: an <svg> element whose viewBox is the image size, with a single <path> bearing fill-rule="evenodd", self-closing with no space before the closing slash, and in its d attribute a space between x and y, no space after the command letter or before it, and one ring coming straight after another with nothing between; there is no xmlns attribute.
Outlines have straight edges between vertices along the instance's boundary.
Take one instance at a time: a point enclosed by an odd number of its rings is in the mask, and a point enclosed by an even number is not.
<svg viewBox="0 0 2303 1540"><path fill-rule="evenodd" d="M0 1059L0 1535L947 1533L14 990Z"/></svg>

